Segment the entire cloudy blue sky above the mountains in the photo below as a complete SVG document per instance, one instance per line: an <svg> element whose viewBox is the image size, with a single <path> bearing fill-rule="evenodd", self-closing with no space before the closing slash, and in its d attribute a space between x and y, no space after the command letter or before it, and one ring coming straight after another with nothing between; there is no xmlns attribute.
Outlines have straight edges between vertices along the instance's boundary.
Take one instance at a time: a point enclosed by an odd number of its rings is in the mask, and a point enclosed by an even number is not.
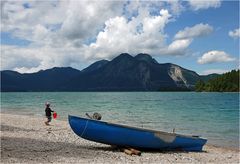
<svg viewBox="0 0 240 164"><path fill-rule="evenodd" d="M1 0L1 70L79 70L148 53L200 75L239 69L239 1Z"/></svg>

